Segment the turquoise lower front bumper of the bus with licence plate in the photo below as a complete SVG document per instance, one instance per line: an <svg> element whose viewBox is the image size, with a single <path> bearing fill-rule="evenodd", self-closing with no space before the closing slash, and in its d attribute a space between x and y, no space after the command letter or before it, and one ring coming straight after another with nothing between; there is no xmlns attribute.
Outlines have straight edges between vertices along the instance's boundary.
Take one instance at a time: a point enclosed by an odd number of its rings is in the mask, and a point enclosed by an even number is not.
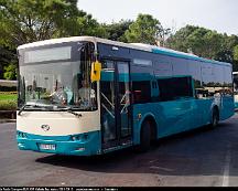
<svg viewBox="0 0 238 191"><path fill-rule="evenodd" d="M73 137L78 139L73 140ZM91 156L101 153L99 131L88 132L87 139L85 135L46 137L18 131L17 140L20 150L72 156Z"/></svg>

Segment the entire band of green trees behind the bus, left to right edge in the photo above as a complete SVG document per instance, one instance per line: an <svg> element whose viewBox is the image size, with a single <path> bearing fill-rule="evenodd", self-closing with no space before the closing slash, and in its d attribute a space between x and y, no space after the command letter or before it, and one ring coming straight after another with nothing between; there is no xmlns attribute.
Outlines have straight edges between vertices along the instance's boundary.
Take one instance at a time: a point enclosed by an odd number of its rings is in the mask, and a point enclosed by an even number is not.
<svg viewBox="0 0 238 191"><path fill-rule="evenodd" d="M77 0L0 0L0 78L15 78L18 45L53 38L93 35L191 52L229 62L238 71L238 36L186 25L175 34L150 14L136 21L98 23Z"/></svg>

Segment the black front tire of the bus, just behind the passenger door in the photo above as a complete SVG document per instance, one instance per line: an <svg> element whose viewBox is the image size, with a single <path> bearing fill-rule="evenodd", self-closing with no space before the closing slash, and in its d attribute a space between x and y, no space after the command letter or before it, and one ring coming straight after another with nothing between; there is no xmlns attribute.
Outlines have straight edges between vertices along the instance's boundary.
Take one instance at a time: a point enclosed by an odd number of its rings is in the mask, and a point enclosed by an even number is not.
<svg viewBox="0 0 238 191"><path fill-rule="evenodd" d="M148 120L142 124L140 134L140 146L139 151L145 152L150 149L151 144L151 126Z"/></svg>

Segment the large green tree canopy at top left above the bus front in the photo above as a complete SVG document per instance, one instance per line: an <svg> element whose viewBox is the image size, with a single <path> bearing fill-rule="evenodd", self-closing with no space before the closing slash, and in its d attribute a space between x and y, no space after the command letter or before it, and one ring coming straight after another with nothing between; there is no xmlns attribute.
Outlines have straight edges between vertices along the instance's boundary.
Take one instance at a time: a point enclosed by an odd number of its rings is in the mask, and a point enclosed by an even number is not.
<svg viewBox="0 0 238 191"><path fill-rule="evenodd" d="M105 36L106 30L77 9L77 0L0 0L0 44L72 35Z"/></svg>

